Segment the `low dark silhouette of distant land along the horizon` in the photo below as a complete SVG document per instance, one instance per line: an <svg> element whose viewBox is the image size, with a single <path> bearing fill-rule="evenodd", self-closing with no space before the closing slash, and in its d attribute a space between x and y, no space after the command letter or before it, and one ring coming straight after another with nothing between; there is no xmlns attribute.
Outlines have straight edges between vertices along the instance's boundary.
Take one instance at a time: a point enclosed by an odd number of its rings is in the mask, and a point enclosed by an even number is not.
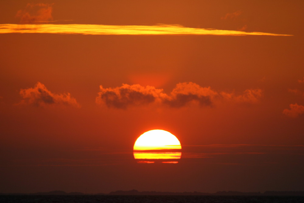
<svg viewBox="0 0 304 203"><path fill-rule="evenodd" d="M50 191L50 192L36 192L36 193L0 193L0 195L215 195L215 196L304 196L304 191L265 191L261 192L237 192L237 191L218 191L216 193L204 192L156 192L156 191L122 191L118 190L110 193L94 193L85 194L82 192L64 192L64 191Z"/></svg>

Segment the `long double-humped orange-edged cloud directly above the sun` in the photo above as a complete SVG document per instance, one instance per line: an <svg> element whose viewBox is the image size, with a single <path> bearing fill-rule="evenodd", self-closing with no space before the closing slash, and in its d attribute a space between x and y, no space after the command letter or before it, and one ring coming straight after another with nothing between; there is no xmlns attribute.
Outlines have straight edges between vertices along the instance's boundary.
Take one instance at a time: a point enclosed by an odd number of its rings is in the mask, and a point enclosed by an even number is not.
<svg viewBox="0 0 304 203"><path fill-rule="evenodd" d="M100 86L96 103L118 109L152 103L180 108L190 103L212 106L216 100L221 99L237 103L256 103L261 96L261 89L247 89L244 94L235 95L225 92L218 93L210 87L201 87L193 82L178 83L169 95L164 93L163 89L156 89L153 86L123 84L121 87L115 88Z"/></svg>

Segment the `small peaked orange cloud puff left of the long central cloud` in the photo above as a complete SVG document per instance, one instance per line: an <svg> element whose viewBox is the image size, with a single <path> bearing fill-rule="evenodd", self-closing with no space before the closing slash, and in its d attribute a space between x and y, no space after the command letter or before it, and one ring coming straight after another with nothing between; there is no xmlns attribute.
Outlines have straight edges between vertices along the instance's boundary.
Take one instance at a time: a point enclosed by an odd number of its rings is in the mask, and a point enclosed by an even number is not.
<svg viewBox="0 0 304 203"><path fill-rule="evenodd" d="M71 97L70 93L51 93L41 82L37 82L34 88L21 89L20 95L23 98L21 104L32 104L37 107L55 104L80 107L80 104Z"/></svg>

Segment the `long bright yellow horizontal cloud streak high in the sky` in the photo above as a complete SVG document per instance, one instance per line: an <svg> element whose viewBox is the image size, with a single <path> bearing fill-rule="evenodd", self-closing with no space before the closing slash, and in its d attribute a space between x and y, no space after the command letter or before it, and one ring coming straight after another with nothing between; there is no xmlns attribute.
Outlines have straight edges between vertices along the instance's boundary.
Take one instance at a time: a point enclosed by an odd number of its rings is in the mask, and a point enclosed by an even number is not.
<svg viewBox="0 0 304 203"><path fill-rule="evenodd" d="M83 35L269 35L292 36L263 32L191 28L180 25L90 25L90 24L0 24L0 33L54 33Z"/></svg>

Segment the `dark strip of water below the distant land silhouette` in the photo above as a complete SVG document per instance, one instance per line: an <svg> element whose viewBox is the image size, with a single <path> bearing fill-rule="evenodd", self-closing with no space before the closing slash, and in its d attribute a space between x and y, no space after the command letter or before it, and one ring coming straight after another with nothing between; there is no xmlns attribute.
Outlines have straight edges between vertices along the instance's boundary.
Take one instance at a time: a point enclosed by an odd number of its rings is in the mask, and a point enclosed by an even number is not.
<svg viewBox="0 0 304 203"><path fill-rule="evenodd" d="M5 203L47 203L47 202L78 202L78 203L304 203L304 196L173 196L173 195L0 195L0 202Z"/></svg>

